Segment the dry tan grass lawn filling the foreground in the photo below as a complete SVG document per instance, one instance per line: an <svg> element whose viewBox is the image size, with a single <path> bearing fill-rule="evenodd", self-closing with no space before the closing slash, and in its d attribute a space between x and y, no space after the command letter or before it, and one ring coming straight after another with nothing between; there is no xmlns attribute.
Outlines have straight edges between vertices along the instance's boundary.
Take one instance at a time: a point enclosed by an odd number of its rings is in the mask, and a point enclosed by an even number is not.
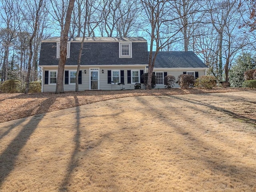
<svg viewBox="0 0 256 192"><path fill-rule="evenodd" d="M136 96L3 122L0 191L256 191L255 93Z"/></svg>

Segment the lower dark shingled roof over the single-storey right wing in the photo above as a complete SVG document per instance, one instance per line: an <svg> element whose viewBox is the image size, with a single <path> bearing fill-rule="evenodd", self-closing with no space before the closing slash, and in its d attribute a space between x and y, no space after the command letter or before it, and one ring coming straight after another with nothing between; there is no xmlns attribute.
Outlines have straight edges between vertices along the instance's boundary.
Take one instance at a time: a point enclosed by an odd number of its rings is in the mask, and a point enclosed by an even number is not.
<svg viewBox="0 0 256 192"><path fill-rule="evenodd" d="M153 52L154 55L154 52ZM192 51L158 52L154 68L208 68Z"/></svg>

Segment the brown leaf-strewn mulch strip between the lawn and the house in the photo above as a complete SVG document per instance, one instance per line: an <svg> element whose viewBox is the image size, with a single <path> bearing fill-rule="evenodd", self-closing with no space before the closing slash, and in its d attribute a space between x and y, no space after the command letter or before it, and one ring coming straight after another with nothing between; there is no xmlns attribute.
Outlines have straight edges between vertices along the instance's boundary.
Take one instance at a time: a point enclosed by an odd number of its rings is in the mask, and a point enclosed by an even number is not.
<svg viewBox="0 0 256 192"><path fill-rule="evenodd" d="M32 115L57 111L76 106L91 104L116 98L149 95L177 95L177 94L204 94L217 92L237 92L244 88L213 88L187 89L174 88L171 90L121 90L121 91L81 91L30 94L0 94L0 122L6 122ZM246 113L246 112L245 112ZM247 116L250 114L246 114Z"/></svg>

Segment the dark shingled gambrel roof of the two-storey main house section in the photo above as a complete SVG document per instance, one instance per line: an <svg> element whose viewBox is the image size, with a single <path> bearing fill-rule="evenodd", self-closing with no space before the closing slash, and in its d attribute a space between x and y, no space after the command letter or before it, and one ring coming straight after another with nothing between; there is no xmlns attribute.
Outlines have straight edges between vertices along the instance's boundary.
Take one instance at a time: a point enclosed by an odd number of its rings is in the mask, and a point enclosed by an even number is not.
<svg viewBox="0 0 256 192"><path fill-rule="evenodd" d="M40 51L40 66L57 66L59 59L57 54L57 43L60 37L49 38L42 41ZM81 37L71 37L70 56L66 60L67 66L77 65L80 50ZM130 44L132 56L130 58L120 57L120 44ZM81 65L147 65L148 43L142 37L87 37L81 57Z"/></svg>

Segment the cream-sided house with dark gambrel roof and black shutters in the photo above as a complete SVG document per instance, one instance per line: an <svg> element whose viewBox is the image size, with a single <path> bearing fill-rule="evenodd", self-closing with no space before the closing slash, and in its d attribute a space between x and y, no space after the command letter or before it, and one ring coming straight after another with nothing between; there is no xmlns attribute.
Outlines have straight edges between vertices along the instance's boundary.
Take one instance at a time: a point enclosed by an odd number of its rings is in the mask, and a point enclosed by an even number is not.
<svg viewBox="0 0 256 192"><path fill-rule="evenodd" d="M64 72L64 91L75 90L78 52L82 38L68 39ZM39 66L42 68L42 92L54 92L60 57L60 38L42 41ZM207 66L193 52L159 52L154 72L156 88L164 88L164 76L206 74ZM141 75L148 72L148 43L142 37L88 37L84 40L79 90L134 89L143 84ZM120 86L118 83L123 83ZM144 86L142 85L142 88Z"/></svg>

